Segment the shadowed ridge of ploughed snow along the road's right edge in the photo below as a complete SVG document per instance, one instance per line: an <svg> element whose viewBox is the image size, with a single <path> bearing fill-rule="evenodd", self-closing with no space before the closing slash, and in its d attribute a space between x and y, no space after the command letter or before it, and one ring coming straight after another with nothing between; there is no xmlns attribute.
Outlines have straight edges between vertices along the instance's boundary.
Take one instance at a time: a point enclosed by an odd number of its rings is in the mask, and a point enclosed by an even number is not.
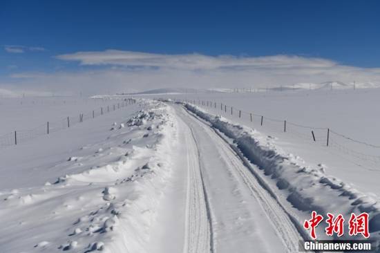
<svg viewBox="0 0 380 253"><path fill-rule="evenodd" d="M345 217L349 217L352 212L368 212L371 236L380 237L380 203L376 195L364 194L349 183L326 175L323 165L319 165L319 169L303 166L301 158L285 153L274 145L272 136L264 136L253 129L233 124L220 116L202 111L198 106L184 106L231 138L238 151L259 168L257 171L251 167L251 172L283 205L298 227L301 227L305 218L310 218L313 210L324 216L330 212ZM319 238L325 236L323 228L319 226Z"/></svg>

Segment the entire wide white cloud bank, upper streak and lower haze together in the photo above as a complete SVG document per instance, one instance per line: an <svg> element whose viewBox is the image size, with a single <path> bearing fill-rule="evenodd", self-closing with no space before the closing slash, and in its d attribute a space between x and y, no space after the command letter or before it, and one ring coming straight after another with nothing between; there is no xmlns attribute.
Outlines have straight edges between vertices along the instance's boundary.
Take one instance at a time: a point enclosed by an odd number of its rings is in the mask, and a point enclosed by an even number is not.
<svg viewBox="0 0 380 253"><path fill-rule="evenodd" d="M214 57L105 50L58 55L57 58L90 67L55 73L17 73L12 75L14 85L53 93L95 94L163 87L264 88L331 80L380 84L380 68L359 68L329 59L289 55ZM93 69L91 66L103 67Z"/></svg>

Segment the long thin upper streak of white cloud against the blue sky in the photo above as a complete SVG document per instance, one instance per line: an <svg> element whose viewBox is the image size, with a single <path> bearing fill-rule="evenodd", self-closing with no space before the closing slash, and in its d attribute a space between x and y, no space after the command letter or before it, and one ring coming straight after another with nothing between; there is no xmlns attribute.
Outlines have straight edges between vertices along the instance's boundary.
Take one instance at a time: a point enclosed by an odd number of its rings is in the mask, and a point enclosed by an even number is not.
<svg viewBox="0 0 380 253"><path fill-rule="evenodd" d="M200 54L162 55L121 50L101 52L78 52L58 55L58 59L77 61L82 65L149 66L180 68L188 70L210 70L216 68L294 68L307 65L310 68L328 68L336 63L327 59L305 58L288 55L267 57L236 57L220 55L216 57Z"/></svg>

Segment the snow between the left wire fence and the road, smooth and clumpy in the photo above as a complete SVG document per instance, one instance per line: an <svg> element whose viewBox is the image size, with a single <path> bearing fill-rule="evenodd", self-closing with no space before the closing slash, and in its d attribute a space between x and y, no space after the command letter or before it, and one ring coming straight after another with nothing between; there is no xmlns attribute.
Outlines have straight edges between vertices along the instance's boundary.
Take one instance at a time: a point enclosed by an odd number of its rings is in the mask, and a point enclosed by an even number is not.
<svg viewBox="0 0 380 253"><path fill-rule="evenodd" d="M130 106L66 133L4 149L1 252L143 252L171 174L177 128L163 104L137 109ZM110 130L115 119L128 129ZM86 133L88 128L93 133ZM37 144L47 147L30 152ZM20 157L26 162L13 161L17 153L25 153Z"/></svg>

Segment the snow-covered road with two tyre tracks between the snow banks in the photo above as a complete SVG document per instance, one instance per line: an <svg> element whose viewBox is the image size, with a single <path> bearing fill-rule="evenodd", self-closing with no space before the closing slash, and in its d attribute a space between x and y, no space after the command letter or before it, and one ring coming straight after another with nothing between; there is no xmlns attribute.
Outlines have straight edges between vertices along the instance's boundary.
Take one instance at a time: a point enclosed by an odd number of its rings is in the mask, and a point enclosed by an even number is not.
<svg viewBox="0 0 380 253"><path fill-rule="evenodd" d="M301 236L209 124L175 105L187 147L184 252L296 252Z"/></svg>

